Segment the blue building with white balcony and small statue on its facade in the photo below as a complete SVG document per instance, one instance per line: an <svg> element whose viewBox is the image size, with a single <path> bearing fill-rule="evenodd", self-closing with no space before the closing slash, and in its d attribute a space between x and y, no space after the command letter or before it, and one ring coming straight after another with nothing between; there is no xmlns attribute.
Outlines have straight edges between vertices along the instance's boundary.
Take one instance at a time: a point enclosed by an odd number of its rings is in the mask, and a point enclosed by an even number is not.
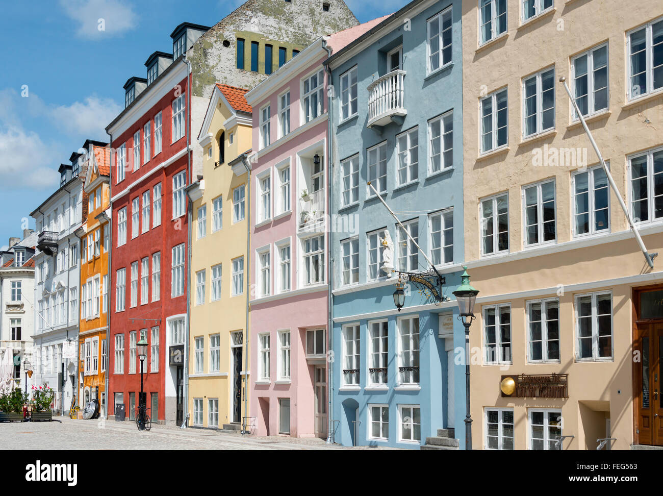
<svg viewBox="0 0 663 496"><path fill-rule="evenodd" d="M452 294L463 261L461 64L460 0L412 1L326 62L335 89L330 413L346 446L418 449L441 428L464 446L465 338ZM368 182L446 278L450 301L433 304L408 282L396 309L385 231L396 271L430 266Z"/></svg>

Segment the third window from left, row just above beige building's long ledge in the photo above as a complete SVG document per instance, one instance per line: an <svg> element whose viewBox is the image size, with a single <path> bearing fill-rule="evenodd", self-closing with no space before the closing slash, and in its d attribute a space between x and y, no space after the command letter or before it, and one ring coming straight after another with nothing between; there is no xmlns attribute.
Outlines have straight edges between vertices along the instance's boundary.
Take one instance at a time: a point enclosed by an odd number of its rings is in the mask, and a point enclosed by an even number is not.
<svg viewBox="0 0 663 496"><path fill-rule="evenodd" d="M573 235L595 234L610 226L608 178L602 166L573 175Z"/></svg>

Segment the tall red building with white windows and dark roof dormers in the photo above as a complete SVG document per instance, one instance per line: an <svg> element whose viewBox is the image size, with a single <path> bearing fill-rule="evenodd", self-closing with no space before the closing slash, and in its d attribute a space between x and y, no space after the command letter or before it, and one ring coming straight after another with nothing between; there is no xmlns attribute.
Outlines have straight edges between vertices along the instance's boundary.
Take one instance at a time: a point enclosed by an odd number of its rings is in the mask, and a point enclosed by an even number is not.
<svg viewBox="0 0 663 496"><path fill-rule="evenodd" d="M169 58L170 57L170 58ZM109 414L133 420L141 391L137 341L148 341L143 391L153 422L184 412L190 109L182 56L155 52L156 74L125 84L111 136ZM147 66L148 64L146 64ZM119 406L119 405L123 405Z"/></svg>

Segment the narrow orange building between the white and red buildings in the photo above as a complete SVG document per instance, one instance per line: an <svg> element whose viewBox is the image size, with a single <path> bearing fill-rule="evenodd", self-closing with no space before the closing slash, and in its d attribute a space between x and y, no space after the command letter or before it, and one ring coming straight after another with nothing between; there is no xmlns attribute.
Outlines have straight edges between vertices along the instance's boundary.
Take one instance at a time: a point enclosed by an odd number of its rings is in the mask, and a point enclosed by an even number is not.
<svg viewBox="0 0 663 496"><path fill-rule="evenodd" d="M108 263L110 249L110 150L104 143L86 142L88 167L83 186L83 225L80 237L80 344L78 404L99 401L106 410Z"/></svg>

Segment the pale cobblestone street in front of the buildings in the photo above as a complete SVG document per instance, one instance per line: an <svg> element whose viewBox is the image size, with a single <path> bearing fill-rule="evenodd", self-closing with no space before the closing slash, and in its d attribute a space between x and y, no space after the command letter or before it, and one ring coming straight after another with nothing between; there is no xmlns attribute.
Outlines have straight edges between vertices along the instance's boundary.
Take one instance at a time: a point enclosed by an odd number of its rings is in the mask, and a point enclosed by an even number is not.
<svg viewBox="0 0 663 496"><path fill-rule="evenodd" d="M207 429L152 425L139 432L135 422L71 420L0 424L3 450L381 450L330 446L318 438L241 436Z"/></svg>

